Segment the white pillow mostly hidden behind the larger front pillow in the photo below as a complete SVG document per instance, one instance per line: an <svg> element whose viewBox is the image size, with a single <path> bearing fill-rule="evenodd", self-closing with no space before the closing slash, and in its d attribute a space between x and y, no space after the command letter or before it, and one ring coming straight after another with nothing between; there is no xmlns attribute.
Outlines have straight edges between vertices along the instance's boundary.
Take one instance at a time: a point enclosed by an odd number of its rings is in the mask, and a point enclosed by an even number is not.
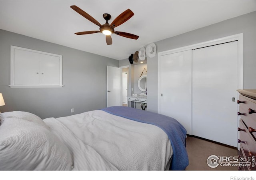
<svg viewBox="0 0 256 180"><path fill-rule="evenodd" d="M4 112L0 114L0 118L1 117L2 117L2 121L4 121L6 118L19 118L19 119L27 120L30 122L36 122L44 126L46 129L50 130L50 128L45 124L45 122L40 117L30 112L24 112L24 111Z"/></svg>

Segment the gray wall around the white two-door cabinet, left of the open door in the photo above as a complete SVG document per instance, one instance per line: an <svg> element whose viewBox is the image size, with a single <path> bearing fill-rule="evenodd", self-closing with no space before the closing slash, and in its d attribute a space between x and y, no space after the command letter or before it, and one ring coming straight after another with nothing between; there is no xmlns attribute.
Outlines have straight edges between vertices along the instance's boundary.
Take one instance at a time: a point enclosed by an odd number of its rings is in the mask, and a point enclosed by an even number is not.
<svg viewBox="0 0 256 180"><path fill-rule="evenodd" d="M10 45L62 55L64 87L10 88ZM0 30L0 92L6 104L0 111L27 111L48 118L104 108L106 66L118 67L119 61Z"/></svg>

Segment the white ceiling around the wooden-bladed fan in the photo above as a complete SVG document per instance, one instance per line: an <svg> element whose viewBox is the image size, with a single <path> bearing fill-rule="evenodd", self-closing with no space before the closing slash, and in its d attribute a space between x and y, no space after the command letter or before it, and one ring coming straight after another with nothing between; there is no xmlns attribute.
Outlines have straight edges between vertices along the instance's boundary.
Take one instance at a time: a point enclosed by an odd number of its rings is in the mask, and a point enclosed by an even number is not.
<svg viewBox="0 0 256 180"><path fill-rule="evenodd" d="M70 8L76 5L98 22L109 23L130 8L134 16L112 34L107 45L102 33L76 35L99 27ZM152 42L256 11L256 0L0 0L0 28L40 40L122 60Z"/></svg>

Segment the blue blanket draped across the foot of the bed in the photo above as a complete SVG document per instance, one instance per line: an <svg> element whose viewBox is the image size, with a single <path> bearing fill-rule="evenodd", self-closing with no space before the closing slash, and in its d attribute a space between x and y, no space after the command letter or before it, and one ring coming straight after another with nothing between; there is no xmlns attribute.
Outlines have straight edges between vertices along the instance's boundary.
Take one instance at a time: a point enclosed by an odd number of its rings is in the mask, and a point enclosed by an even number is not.
<svg viewBox="0 0 256 180"><path fill-rule="evenodd" d="M185 170L188 166L188 154L186 151L187 131L174 118L126 106L112 106L101 110L130 120L158 126L166 132L172 144L173 156L170 169Z"/></svg>

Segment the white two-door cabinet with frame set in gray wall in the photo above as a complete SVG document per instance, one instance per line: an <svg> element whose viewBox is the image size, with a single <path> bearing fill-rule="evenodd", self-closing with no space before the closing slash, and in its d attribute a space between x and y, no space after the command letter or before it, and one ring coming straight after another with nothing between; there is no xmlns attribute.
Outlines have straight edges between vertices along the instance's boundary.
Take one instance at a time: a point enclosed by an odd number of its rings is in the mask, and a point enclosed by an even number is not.
<svg viewBox="0 0 256 180"><path fill-rule="evenodd" d="M11 87L62 87L62 56L11 46Z"/></svg>

